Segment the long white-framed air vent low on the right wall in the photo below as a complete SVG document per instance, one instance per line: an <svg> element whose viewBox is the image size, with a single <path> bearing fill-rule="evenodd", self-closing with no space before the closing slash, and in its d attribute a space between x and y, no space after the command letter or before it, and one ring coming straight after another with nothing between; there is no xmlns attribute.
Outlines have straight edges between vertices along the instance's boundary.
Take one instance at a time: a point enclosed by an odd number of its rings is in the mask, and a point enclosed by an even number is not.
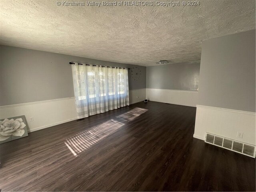
<svg viewBox="0 0 256 192"><path fill-rule="evenodd" d="M250 144L245 144L240 141L224 138L211 133L206 133L205 142L255 158L255 146Z"/></svg>

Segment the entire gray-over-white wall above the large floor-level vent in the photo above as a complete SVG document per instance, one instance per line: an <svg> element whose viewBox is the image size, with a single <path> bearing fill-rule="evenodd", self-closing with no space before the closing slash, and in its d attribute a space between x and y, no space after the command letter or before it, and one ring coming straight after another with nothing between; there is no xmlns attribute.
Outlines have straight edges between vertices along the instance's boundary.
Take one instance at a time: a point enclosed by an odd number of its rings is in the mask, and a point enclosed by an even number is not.
<svg viewBox="0 0 256 192"><path fill-rule="evenodd" d="M210 132L255 145L255 77L255 30L205 40L194 137Z"/></svg>

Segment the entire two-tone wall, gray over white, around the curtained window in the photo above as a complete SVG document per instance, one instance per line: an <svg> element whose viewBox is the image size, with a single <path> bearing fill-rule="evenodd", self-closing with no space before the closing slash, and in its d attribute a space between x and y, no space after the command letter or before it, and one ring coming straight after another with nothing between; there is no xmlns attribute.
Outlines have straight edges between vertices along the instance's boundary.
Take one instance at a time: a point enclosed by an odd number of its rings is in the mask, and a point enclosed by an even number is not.
<svg viewBox="0 0 256 192"><path fill-rule="evenodd" d="M76 119L69 62L138 67L10 46L0 51L0 119L25 115L29 132ZM139 68L138 81L128 70L130 104L146 98L146 67Z"/></svg>

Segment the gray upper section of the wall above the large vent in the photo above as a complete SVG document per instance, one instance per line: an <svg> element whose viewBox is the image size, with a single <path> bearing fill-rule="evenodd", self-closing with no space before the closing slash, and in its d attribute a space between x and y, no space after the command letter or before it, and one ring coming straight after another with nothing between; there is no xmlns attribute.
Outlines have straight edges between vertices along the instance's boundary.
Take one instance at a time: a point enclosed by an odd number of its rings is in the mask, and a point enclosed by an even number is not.
<svg viewBox="0 0 256 192"><path fill-rule="evenodd" d="M202 43L199 103L255 112L255 30Z"/></svg>

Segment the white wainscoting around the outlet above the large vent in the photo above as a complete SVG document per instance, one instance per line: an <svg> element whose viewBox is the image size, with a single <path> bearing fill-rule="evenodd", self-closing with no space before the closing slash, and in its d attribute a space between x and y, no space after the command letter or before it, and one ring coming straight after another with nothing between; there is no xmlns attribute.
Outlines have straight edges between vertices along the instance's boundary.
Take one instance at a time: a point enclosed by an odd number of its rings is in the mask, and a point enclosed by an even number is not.
<svg viewBox="0 0 256 192"><path fill-rule="evenodd" d="M244 132L243 138L236 137L238 131ZM256 114L197 105L194 138L204 140L205 132L255 145Z"/></svg>

